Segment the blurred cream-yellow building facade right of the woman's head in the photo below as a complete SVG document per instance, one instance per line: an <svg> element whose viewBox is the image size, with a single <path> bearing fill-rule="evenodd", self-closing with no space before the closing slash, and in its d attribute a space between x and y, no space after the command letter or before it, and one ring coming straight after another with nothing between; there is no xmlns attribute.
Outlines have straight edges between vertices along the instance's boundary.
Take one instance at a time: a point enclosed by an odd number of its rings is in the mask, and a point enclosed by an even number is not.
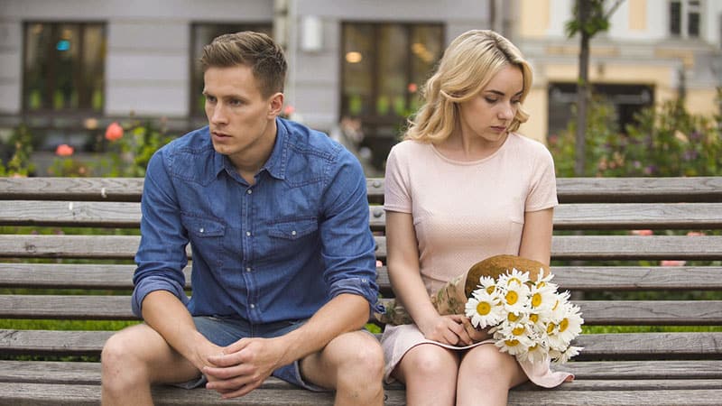
<svg viewBox="0 0 722 406"><path fill-rule="evenodd" d="M611 7L617 0L606 0ZM542 139L565 128L579 77L579 37L567 38L574 0L515 2L514 42L531 60L534 88L523 132ZM608 32L591 41L589 80L616 107L620 128L644 106L684 97L694 114L719 114L722 2L623 0Z"/></svg>

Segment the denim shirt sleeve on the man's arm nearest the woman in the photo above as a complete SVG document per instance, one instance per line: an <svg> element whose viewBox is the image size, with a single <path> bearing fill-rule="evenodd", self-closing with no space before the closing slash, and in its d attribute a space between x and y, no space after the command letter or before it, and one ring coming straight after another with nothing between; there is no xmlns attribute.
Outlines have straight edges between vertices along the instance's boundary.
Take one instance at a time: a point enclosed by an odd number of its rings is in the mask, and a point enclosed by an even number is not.
<svg viewBox="0 0 722 406"><path fill-rule="evenodd" d="M330 171L324 194L324 220L320 224L324 279L329 296L352 293L380 310L374 236L368 226L366 176L350 152L340 153Z"/></svg>

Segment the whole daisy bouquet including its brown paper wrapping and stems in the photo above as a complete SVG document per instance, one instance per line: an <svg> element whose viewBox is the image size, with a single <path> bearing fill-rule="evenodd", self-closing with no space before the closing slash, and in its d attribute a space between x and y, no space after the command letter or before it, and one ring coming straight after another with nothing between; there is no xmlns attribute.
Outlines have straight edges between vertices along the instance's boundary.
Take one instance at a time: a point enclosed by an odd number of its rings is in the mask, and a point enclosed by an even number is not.
<svg viewBox="0 0 722 406"><path fill-rule="evenodd" d="M569 292L559 293L549 266L517 255L495 255L475 263L467 272L430 296L439 314L465 314L474 328L486 328L501 351L532 363L546 359L564 363L582 349L571 346L579 336L579 307ZM384 324L413 323L395 300L384 302L375 318Z"/></svg>

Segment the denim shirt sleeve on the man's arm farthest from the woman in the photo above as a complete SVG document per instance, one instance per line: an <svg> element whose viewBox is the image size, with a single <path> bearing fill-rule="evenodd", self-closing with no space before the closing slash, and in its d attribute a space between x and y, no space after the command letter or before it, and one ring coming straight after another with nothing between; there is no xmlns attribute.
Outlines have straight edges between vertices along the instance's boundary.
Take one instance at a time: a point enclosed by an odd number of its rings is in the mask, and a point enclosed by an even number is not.
<svg viewBox="0 0 722 406"><path fill-rule="evenodd" d="M188 263L188 235L180 222L180 208L163 162L163 152L153 155L143 184L141 243L135 254L132 307L142 317L143 299L152 291L170 291L183 303L183 268Z"/></svg>

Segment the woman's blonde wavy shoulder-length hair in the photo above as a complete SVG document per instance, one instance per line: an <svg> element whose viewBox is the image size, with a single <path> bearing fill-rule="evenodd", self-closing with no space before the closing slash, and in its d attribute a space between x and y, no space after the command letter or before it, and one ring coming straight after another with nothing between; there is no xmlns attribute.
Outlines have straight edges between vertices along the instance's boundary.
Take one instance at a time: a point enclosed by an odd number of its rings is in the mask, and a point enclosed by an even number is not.
<svg viewBox="0 0 722 406"><path fill-rule="evenodd" d="M424 103L408 123L405 140L440 143L458 124L458 104L486 87L505 66L522 69L523 103L532 88L532 67L512 42L490 30L471 30L459 35L444 51L436 72L421 88ZM529 115L522 106L509 125L509 132L519 129Z"/></svg>

